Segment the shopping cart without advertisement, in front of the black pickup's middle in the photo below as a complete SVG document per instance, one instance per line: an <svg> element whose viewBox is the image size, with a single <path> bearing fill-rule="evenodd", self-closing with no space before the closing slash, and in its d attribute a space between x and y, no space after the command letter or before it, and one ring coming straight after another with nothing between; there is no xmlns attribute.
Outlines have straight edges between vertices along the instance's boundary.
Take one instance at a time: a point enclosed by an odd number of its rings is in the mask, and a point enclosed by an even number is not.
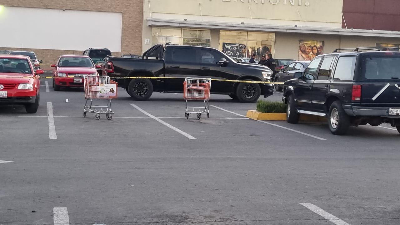
<svg viewBox="0 0 400 225"><path fill-rule="evenodd" d="M210 118L210 108L208 101L210 100L211 78L190 78L187 77L183 82L183 98L186 101L185 117L189 119L190 113L197 114L197 119L201 118L202 113L207 113ZM204 107L188 106L188 100L204 101Z"/></svg>

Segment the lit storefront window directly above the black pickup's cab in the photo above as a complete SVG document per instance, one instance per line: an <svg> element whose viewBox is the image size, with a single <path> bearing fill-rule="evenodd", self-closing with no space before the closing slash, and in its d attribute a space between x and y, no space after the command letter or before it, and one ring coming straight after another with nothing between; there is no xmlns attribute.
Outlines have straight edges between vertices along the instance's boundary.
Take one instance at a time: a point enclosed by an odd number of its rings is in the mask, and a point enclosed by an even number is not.
<svg viewBox="0 0 400 225"><path fill-rule="evenodd" d="M210 30L152 28L152 44L194 45L210 47Z"/></svg>

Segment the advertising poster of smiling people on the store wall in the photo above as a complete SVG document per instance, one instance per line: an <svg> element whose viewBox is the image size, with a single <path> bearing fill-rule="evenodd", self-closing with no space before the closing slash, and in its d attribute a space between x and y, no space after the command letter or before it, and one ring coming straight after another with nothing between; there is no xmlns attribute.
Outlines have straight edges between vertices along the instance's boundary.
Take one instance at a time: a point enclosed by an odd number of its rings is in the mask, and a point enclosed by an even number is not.
<svg viewBox="0 0 400 225"><path fill-rule="evenodd" d="M324 41L299 40L299 61L311 61L316 56L324 54Z"/></svg>

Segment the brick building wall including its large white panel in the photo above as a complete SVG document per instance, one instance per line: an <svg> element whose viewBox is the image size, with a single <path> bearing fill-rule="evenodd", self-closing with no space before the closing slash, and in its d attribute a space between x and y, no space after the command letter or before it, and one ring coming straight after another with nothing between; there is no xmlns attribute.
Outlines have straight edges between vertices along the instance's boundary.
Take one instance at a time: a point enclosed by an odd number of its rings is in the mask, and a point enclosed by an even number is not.
<svg viewBox="0 0 400 225"><path fill-rule="evenodd" d="M142 52L143 0L0 0L0 50L29 50L50 68L61 54Z"/></svg>

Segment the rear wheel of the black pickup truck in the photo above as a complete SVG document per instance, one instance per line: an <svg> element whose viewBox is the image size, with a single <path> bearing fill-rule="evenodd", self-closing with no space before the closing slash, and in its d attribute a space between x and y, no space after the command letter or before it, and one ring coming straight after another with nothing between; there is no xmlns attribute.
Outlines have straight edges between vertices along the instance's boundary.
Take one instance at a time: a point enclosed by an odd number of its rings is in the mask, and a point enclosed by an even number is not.
<svg viewBox="0 0 400 225"><path fill-rule="evenodd" d="M153 94L153 84L149 79L134 79L128 85L128 93L133 100L146 101Z"/></svg>

